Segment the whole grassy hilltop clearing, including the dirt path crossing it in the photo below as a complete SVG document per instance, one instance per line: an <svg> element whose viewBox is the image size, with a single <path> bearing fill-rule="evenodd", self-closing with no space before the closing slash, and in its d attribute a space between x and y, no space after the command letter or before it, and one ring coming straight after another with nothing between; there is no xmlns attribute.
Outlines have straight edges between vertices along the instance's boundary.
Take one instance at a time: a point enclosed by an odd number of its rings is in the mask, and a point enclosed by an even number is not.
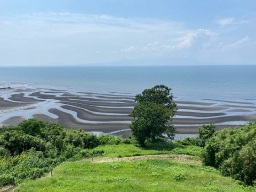
<svg viewBox="0 0 256 192"><path fill-rule="evenodd" d="M216 169L200 165L199 147L174 148L173 144L165 143L165 148L162 148L164 150L158 150L160 145L163 143L148 145L149 149L140 148L136 144L99 146L90 149L104 150L102 156L94 158L93 162L91 158L64 162L54 169L52 177L27 181L15 191L252 191L252 188L243 187L233 179L221 176ZM171 151L174 153L171 156L150 155ZM191 155L176 155L182 153ZM137 159L130 160L123 158L134 155L149 156L136 156Z"/></svg>

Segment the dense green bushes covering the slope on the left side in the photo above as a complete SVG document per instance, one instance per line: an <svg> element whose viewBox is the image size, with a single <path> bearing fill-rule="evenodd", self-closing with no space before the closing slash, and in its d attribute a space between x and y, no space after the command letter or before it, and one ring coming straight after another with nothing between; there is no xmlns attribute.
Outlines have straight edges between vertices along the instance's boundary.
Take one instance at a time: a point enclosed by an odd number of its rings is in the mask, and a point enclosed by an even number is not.
<svg viewBox="0 0 256 192"><path fill-rule="evenodd" d="M57 123L29 119L17 127L0 128L0 186L35 179L66 160L96 156L98 145L131 143L113 136L96 137Z"/></svg>

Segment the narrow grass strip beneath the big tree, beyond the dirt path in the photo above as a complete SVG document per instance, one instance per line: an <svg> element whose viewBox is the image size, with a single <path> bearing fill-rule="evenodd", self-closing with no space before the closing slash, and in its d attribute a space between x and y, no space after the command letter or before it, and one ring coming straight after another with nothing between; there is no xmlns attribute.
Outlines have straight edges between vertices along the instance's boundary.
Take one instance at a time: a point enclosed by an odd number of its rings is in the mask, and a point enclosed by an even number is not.
<svg viewBox="0 0 256 192"><path fill-rule="evenodd" d="M201 156L202 148L189 145L184 146L177 143L158 142L146 144L146 147L140 147L138 144L118 144L99 146L91 150L103 150L102 157L128 157L139 155L157 155L157 154L183 154L192 156Z"/></svg>

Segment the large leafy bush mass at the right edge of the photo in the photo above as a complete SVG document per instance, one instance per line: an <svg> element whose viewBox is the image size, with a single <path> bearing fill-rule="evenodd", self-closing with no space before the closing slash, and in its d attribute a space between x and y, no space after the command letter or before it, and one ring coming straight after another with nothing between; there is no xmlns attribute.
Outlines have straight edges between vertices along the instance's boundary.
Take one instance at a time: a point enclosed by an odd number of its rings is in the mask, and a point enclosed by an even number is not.
<svg viewBox="0 0 256 192"><path fill-rule="evenodd" d="M252 185L256 180L256 122L217 131L206 141L203 163Z"/></svg>

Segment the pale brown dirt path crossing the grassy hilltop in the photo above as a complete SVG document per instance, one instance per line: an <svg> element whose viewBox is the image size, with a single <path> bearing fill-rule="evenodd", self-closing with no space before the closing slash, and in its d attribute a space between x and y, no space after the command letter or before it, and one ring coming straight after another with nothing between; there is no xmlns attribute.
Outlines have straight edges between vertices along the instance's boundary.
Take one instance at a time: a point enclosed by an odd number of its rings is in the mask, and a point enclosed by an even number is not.
<svg viewBox="0 0 256 192"><path fill-rule="evenodd" d="M191 155L176 155L176 154L163 154L163 155L141 155L131 157L95 157L90 159L84 159L84 161L91 161L94 163L113 162L113 161L133 161L133 160L145 160L145 159L165 159L175 160L183 163L190 163L192 165L202 165L202 161L199 157ZM82 160L80 160L82 161Z"/></svg>

